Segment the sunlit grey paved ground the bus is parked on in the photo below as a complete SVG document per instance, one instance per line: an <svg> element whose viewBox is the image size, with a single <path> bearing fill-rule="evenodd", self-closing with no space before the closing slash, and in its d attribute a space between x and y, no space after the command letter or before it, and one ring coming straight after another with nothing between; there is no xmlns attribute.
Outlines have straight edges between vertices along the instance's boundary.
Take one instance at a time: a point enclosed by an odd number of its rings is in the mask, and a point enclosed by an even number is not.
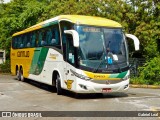
<svg viewBox="0 0 160 120"><path fill-rule="evenodd" d="M160 111L160 89L130 88L127 93L85 94L80 95L77 99L75 94L70 92L58 96L53 87L34 81L20 82L15 79L15 76L0 75L0 111ZM115 114L118 113L115 112ZM44 118L33 118L33 120L41 119ZM93 118L75 116L63 119L88 120ZM94 119L106 119L106 117L94 117ZM117 119L160 120L160 117Z"/></svg>

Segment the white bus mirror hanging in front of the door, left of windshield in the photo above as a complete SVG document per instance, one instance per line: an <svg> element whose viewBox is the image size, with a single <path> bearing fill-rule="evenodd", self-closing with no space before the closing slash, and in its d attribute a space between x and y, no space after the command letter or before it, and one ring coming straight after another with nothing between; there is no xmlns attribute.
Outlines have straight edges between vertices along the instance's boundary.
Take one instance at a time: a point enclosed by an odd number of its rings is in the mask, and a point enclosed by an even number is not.
<svg viewBox="0 0 160 120"><path fill-rule="evenodd" d="M71 34L73 36L73 45L74 47L79 47L79 35L75 30L64 30L64 33Z"/></svg>

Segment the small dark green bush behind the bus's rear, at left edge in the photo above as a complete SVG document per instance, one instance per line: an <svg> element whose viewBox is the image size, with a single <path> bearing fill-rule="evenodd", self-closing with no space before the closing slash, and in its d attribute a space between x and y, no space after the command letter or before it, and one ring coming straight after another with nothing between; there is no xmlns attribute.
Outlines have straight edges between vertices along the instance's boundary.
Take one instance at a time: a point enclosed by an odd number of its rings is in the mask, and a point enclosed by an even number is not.
<svg viewBox="0 0 160 120"><path fill-rule="evenodd" d="M5 63L0 64L0 73L10 73L11 65L10 60L6 60Z"/></svg>

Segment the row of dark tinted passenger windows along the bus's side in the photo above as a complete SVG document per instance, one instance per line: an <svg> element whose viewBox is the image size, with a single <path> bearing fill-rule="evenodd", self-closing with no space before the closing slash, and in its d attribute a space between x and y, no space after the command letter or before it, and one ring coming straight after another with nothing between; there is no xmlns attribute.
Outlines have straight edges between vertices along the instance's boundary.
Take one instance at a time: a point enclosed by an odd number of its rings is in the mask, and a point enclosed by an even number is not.
<svg viewBox="0 0 160 120"><path fill-rule="evenodd" d="M15 36L12 40L12 47L15 49L42 46L61 48L58 24Z"/></svg>

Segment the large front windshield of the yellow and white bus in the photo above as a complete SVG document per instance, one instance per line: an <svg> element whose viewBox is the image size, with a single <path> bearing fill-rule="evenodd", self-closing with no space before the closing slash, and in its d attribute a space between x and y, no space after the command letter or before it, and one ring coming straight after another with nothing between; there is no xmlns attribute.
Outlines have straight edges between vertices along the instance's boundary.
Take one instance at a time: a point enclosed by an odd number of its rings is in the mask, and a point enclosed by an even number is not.
<svg viewBox="0 0 160 120"><path fill-rule="evenodd" d="M114 70L128 65L128 51L121 28L76 26L80 46L78 60L81 67L93 71Z"/></svg>

